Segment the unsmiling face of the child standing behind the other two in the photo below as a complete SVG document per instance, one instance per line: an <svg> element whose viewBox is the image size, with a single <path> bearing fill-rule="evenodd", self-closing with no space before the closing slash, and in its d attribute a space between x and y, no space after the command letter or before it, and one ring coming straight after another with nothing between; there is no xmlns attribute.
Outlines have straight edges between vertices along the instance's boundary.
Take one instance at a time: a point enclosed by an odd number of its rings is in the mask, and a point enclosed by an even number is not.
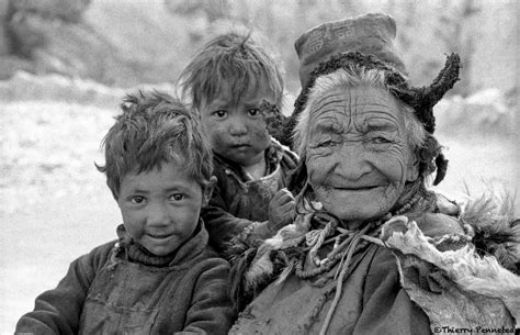
<svg viewBox="0 0 520 335"><path fill-rule="evenodd" d="M229 160L250 166L263 158L271 137L259 110L262 100L274 102L263 88L249 89L233 103L229 89L224 88L213 101L203 100L200 112L204 130L215 153Z"/></svg>

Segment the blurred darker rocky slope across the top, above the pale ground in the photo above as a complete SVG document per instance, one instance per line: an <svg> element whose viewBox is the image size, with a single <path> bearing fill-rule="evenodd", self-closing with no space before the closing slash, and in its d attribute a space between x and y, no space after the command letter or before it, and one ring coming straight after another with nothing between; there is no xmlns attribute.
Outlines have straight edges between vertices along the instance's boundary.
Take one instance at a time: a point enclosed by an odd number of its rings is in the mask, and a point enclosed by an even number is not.
<svg viewBox="0 0 520 335"><path fill-rule="evenodd" d="M463 57L463 97L487 88L516 94L515 0L2 0L0 79L59 74L106 86L174 80L195 48L229 27L260 32L297 90L295 38L327 20L392 14L397 45L416 82L428 83L443 54Z"/></svg>

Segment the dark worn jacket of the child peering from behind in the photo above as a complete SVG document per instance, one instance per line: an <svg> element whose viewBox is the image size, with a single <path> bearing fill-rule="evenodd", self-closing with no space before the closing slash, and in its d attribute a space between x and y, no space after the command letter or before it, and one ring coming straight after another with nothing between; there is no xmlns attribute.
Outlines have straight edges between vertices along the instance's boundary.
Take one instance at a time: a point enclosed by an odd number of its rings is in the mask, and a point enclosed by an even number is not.
<svg viewBox="0 0 520 335"><path fill-rule="evenodd" d="M290 171L296 167L297 156L272 139L265 149L267 174L252 180L236 163L215 154L214 175L217 178L212 199L202 210L210 232L210 244L218 252L226 243L252 222L268 217L269 201L287 186Z"/></svg>

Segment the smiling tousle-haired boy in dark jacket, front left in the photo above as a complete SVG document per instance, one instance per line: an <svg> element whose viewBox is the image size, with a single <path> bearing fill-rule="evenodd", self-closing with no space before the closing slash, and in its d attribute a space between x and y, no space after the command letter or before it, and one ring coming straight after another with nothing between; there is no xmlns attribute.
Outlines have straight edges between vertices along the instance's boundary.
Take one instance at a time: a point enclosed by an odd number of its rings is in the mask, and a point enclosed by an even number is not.
<svg viewBox="0 0 520 335"><path fill-rule="evenodd" d="M127 96L104 138L118 241L76 259L16 333L226 334L229 266L199 217L214 177L201 125L171 97Z"/></svg>

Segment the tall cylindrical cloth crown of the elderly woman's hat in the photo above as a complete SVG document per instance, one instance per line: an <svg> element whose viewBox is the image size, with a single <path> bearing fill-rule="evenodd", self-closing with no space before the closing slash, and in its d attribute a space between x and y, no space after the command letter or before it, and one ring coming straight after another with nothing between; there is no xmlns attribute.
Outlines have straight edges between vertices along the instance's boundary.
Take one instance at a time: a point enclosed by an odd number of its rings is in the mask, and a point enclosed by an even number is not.
<svg viewBox="0 0 520 335"><path fill-rule="evenodd" d="M406 74L394 45L395 36L394 19L383 13L330 21L310 29L294 43L299 58L302 88L307 85L309 74L319 63L347 52L374 55Z"/></svg>

